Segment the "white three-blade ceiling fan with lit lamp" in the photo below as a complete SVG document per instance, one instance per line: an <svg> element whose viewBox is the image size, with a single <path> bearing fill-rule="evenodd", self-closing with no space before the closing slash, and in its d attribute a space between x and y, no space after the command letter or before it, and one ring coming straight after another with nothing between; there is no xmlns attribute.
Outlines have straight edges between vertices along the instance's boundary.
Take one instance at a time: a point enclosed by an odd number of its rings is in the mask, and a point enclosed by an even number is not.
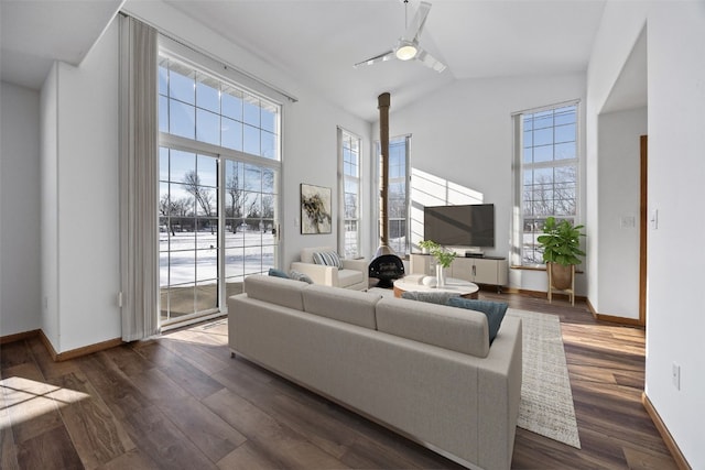
<svg viewBox="0 0 705 470"><path fill-rule="evenodd" d="M409 0L404 0L404 13L406 13L408 9ZM421 36L421 32L423 31L423 25L426 22L426 17L429 15L430 10L431 3L422 1L419 6L419 10L416 10L416 14L411 21L411 24L406 24L406 32L399 39L394 48L376 55L375 57L370 57L367 61L359 62L355 64L355 68L360 65L373 65L379 62L398 58L400 61L420 61L426 67L433 68L438 73L445 70L446 65L444 63L419 46L419 37Z"/></svg>

